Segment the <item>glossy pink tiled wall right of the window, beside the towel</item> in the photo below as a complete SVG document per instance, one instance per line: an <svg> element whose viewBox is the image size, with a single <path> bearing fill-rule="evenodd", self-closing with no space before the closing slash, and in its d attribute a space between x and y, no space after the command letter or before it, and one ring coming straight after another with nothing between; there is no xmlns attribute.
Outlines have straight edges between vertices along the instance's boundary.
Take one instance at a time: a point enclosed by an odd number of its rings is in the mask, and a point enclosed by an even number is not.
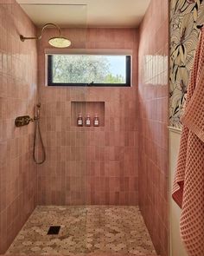
<svg viewBox="0 0 204 256"><path fill-rule="evenodd" d="M168 255L168 1L150 2L139 34L139 206L160 255Z"/></svg>

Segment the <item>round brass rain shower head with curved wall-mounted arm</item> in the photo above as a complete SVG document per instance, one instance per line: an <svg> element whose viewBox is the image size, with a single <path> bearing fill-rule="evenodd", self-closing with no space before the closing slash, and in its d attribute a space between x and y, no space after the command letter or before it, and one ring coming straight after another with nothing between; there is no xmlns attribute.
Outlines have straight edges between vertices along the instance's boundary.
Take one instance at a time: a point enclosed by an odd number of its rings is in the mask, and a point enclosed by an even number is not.
<svg viewBox="0 0 204 256"><path fill-rule="evenodd" d="M25 40L30 40L30 39L31 40L32 39L41 40L41 36L42 36L43 31L46 28L50 27L50 26L55 27L59 31L59 36L54 36L54 37L49 38L48 43L51 46L54 46L56 48L67 48L67 47L69 47L71 45L70 40L68 40L67 37L61 36L61 28L58 25L54 24L54 23L45 24L41 29L41 35L40 36L25 37L25 36L20 35L20 39L21 39L22 42L24 42Z"/></svg>

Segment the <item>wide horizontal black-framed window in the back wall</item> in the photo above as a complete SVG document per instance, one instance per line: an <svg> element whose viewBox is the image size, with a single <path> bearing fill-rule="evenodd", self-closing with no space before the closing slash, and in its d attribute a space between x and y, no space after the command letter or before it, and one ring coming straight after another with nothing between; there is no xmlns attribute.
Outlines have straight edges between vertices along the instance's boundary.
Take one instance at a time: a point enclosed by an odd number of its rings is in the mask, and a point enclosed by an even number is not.
<svg viewBox="0 0 204 256"><path fill-rule="evenodd" d="M48 55L49 86L131 86L131 56Z"/></svg>

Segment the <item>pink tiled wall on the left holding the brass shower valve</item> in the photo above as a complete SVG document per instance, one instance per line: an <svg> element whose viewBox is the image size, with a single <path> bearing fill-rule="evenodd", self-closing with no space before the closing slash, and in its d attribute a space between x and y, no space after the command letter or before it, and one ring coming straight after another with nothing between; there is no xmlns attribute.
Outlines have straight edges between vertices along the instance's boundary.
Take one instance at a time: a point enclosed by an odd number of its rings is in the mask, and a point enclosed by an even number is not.
<svg viewBox="0 0 204 256"><path fill-rule="evenodd" d="M14 1L0 2L0 254L36 204L33 124L16 128L14 121L33 115L37 54L35 42L22 43L19 33L35 36L35 27Z"/></svg>

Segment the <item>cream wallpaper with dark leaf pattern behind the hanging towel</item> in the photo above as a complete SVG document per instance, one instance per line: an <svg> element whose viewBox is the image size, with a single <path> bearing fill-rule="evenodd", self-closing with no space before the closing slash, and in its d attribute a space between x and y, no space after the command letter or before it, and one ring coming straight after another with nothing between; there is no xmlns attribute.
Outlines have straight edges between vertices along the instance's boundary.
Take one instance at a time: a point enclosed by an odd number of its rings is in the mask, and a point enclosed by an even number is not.
<svg viewBox="0 0 204 256"><path fill-rule="evenodd" d="M188 79L204 23L204 0L170 0L169 125L182 128Z"/></svg>

